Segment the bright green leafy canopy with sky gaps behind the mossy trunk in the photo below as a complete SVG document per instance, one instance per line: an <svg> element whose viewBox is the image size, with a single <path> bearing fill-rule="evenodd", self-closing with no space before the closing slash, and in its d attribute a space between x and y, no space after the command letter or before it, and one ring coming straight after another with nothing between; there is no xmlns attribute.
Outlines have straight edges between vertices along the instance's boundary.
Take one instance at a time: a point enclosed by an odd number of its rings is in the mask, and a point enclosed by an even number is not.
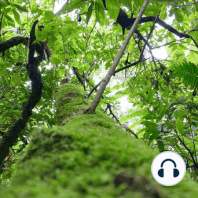
<svg viewBox="0 0 198 198"><path fill-rule="evenodd" d="M160 19L168 20L173 28L189 33L198 42L197 4L193 0L161 2L153 0L144 16L159 15ZM131 12L137 17L142 3L142 0L107 0L107 11L102 0L73 0L67 1L54 14L54 1L0 2L0 44L16 36L29 38L33 22L39 20L36 40L47 42L52 53L51 59L39 66L44 84L42 98L13 147L12 161L4 162L3 170L7 170L1 176L4 182L10 177L9 167L17 162L31 140L31 131L57 124L54 94L59 82L69 77L71 83L79 84L72 70L75 67L88 94L102 80L124 40L121 26L114 25L119 8L122 6L129 17ZM79 17L80 22L77 21ZM145 40L152 25L153 22L147 22L138 26ZM148 44L139 61L145 41L138 34L131 38L117 68L121 70L115 73L114 80L106 88L99 108L104 110L107 103L111 104L119 121L128 123L139 138L160 152L170 149L178 152L188 167L194 168L197 163L198 98L196 94L192 95L192 89L196 91L197 86L197 46L192 39L180 39L157 25ZM0 52L2 132L8 131L21 117L23 104L31 93L31 82L25 69L27 60L28 45L23 43ZM79 87L82 88L80 84ZM127 112L119 106L119 99L124 96L130 102ZM195 179L194 169L191 173Z"/></svg>

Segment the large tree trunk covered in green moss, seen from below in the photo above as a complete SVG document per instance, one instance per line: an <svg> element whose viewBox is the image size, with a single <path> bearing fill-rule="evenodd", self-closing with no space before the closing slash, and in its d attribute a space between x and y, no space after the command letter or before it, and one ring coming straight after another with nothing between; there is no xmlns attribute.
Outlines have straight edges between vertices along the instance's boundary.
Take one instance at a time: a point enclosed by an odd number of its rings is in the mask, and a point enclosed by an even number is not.
<svg viewBox="0 0 198 198"><path fill-rule="evenodd" d="M84 114L89 103L80 89L64 84L56 95L60 126L34 131L1 197L197 197L187 179L158 185L150 170L157 152L105 114Z"/></svg>

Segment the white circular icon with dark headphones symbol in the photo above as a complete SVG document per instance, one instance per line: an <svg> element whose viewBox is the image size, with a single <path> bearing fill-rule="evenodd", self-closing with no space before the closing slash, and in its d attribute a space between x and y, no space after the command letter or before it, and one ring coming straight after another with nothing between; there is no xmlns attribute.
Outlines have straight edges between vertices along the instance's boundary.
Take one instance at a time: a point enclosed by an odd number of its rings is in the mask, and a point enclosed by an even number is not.
<svg viewBox="0 0 198 198"><path fill-rule="evenodd" d="M157 155L151 164L153 178L163 186L174 186L185 176L186 164L175 152L165 151Z"/></svg>

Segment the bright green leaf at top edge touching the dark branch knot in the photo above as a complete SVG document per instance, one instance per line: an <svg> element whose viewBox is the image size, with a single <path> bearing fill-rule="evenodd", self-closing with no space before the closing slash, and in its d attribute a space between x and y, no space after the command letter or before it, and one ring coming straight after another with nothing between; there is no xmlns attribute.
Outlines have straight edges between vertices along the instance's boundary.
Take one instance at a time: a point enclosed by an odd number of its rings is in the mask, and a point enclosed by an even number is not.
<svg viewBox="0 0 198 198"><path fill-rule="evenodd" d="M120 12L119 0L106 0L106 7L108 9L110 17L116 21Z"/></svg>

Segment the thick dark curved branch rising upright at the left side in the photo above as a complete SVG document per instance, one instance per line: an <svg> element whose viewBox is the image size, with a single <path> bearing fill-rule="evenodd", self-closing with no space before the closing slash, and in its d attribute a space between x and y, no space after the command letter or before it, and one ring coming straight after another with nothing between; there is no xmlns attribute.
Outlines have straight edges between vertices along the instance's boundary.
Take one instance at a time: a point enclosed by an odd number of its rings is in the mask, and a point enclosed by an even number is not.
<svg viewBox="0 0 198 198"><path fill-rule="evenodd" d="M41 74L38 66L42 61L43 51L40 52L38 57L34 57L36 45L33 44L35 37L35 26L38 21L35 21L30 32L30 45L29 45L29 60L27 64L27 72L32 83L32 92L26 104L23 107L22 117L18 118L11 128L4 133L0 143L0 165L9 153L9 148L17 141L21 131L26 126L29 117L32 115L32 109L40 101L43 83L41 81ZM11 46L11 45L10 45Z"/></svg>

